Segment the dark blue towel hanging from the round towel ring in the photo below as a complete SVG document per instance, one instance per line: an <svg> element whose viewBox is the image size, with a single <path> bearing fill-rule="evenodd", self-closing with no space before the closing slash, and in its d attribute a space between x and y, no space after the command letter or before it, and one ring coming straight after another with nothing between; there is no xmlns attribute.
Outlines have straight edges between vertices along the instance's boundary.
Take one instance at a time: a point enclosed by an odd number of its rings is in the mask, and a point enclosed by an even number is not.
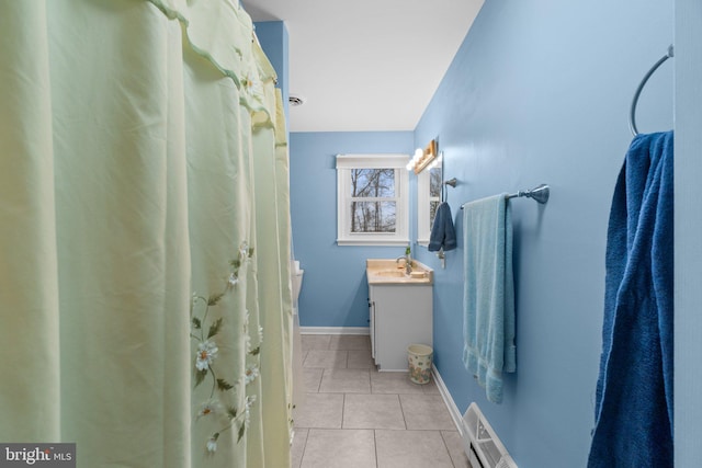
<svg viewBox="0 0 702 468"><path fill-rule="evenodd" d="M672 141L636 136L614 190L589 468L673 466Z"/></svg>

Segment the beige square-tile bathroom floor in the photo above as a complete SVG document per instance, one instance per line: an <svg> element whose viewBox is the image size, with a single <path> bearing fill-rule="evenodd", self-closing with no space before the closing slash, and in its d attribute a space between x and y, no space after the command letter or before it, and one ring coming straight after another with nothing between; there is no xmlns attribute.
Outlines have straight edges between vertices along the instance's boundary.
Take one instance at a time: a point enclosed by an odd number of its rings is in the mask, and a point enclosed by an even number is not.
<svg viewBox="0 0 702 468"><path fill-rule="evenodd" d="M293 468L469 468L439 389L378 373L369 336L303 335Z"/></svg>

